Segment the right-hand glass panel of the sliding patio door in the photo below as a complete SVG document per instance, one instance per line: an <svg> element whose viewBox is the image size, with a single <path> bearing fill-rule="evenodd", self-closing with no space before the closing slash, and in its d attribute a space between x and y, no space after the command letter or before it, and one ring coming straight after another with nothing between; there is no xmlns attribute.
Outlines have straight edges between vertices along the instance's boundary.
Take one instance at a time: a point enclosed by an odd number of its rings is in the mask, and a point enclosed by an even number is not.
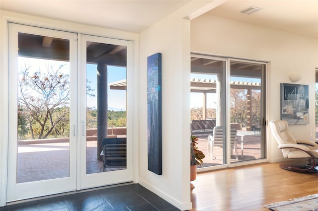
<svg viewBox="0 0 318 211"><path fill-rule="evenodd" d="M231 148L237 161L264 158L262 134L262 75L265 65L231 61L231 128L237 130ZM234 158L234 159L232 159Z"/></svg>

